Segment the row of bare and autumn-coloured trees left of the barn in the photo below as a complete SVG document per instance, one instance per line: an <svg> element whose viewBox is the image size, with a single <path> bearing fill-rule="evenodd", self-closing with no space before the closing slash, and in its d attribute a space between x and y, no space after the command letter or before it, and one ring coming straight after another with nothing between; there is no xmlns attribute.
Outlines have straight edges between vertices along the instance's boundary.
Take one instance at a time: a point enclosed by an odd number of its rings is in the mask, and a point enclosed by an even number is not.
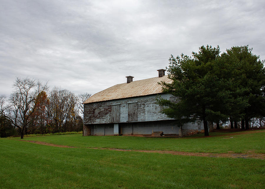
<svg viewBox="0 0 265 189"><path fill-rule="evenodd" d="M82 131L83 102L89 93L75 95L32 78L17 77L9 97L0 96L1 137Z"/></svg>

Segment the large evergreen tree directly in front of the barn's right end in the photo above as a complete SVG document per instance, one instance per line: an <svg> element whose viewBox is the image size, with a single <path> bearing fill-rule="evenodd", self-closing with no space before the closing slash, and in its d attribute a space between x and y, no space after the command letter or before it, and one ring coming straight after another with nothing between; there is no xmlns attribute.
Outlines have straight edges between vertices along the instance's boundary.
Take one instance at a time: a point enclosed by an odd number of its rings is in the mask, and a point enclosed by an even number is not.
<svg viewBox="0 0 265 189"><path fill-rule="evenodd" d="M172 83L161 83L163 91L179 98L178 102L158 98L158 103L165 106L162 110L171 118L175 118L180 124L195 121L196 118L203 121L205 136L208 136L207 121L217 122L227 118L222 111L228 98L231 98L223 79L219 79L216 68L220 58L220 48L201 46L198 53L192 53L193 57L172 55L167 68L168 77ZM225 111L223 111L225 112Z"/></svg>

